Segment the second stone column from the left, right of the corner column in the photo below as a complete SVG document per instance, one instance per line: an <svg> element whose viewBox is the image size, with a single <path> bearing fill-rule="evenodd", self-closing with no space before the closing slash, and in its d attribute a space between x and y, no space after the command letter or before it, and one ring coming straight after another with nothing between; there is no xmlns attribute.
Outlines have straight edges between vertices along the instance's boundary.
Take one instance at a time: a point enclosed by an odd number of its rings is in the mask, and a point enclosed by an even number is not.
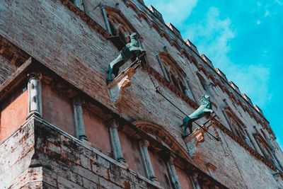
<svg viewBox="0 0 283 189"><path fill-rule="evenodd" d="M74 98L73 99L74 106L74 118L76 124L76 137L80 140L88 140L86 137L86 132L84 130L84 122L83 122L83 108L81 108L81 99Z"/></svg>

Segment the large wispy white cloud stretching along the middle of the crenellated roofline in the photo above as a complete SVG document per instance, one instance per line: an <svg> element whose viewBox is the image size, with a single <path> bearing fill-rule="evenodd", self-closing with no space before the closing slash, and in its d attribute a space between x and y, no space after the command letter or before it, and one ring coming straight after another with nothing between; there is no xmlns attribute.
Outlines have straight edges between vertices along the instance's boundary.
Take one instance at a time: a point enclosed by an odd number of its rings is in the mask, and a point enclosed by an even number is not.
<svg viewBox="0 0 283 189"><path fill-rule="evenodd" d="M263 106L270 101L271 95L267 90L270 69L265 65L250 64L251 62L239 65L231 61L229 42L236 38L236 30L229 18L220 18L218 8L209 8L206 17L199 24L188 25L187 36L253 103Z"/></svg>

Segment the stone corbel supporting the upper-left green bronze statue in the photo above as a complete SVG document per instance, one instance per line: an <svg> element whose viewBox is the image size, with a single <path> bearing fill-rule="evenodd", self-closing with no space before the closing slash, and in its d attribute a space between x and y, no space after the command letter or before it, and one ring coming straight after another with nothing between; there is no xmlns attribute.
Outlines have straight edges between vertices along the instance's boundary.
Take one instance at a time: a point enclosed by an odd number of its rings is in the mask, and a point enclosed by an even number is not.
<svg viewBox="0 0 283 189"><path fill-rule="evenodd" d="M130 67L117 76L117 78L115 78L110 84L108 84L110 99L115 105L120 102L123 89L131 86L131 77L135 72L135 69Z"/></svg>

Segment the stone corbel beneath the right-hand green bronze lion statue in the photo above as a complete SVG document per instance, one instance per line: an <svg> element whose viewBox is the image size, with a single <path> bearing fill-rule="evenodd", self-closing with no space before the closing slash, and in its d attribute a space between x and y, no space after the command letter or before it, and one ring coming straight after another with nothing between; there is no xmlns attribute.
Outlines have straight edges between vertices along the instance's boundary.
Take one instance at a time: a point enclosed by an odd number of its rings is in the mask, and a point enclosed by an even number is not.
<svg viewBox="0 0 283 189"><path fill-rule="evenodd" d="M208 128L206 126L202 126L192 132L189 136L185 137L184 141L187 146L187 151L190 157L194 156L197 151L197 146L204 142L204 133L207 132Z"/></svg>

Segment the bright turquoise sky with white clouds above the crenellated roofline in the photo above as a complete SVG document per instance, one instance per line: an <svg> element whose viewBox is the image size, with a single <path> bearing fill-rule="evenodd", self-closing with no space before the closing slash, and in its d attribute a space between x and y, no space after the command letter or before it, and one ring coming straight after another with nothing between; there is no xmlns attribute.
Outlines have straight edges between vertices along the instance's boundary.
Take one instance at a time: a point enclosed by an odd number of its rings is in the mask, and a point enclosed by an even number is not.
<svg viewBox="0 0 283 189"><path fill-rule="evenodd" d="M257 104L283 149L283 0L144 0Z"/></svg>

